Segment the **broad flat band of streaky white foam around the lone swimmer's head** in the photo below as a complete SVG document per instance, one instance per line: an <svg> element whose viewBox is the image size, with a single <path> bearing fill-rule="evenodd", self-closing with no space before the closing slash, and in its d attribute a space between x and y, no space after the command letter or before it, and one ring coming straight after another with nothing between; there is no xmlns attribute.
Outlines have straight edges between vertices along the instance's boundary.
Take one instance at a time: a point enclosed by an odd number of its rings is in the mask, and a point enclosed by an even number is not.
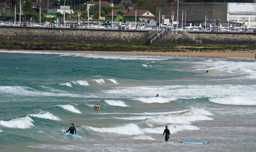
<svg viewBox="0 0 256 152"><path fill-rule="evenodd" d="M162 97L165 99L165 102L167 102L173 101L176 98L189 99L204 97L225 97L233 95L246 96L253 95L255 90L256 85L171 85L114 87L111 90L102 90L101 92L105 94L106 98L112 98L113 96L115 98L134 98L134 92L136 92L137 98L142 98L142 100L145 102L152 102L145 97L155 95L157 92L160 96L152 99L155 100Z"/></svg>

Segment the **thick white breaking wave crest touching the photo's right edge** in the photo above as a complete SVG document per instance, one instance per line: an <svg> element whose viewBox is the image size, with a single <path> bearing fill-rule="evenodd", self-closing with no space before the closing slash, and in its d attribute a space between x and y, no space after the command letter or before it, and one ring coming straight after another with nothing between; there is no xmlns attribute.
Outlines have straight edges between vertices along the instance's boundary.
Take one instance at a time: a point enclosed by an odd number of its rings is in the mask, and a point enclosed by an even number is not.
<svg viewBox="0 0 256 152"><path fill-rule="evenodd" d="M211 102L224 105L256 105L255 96L229 96L222 98L210 98Z"/></svg>

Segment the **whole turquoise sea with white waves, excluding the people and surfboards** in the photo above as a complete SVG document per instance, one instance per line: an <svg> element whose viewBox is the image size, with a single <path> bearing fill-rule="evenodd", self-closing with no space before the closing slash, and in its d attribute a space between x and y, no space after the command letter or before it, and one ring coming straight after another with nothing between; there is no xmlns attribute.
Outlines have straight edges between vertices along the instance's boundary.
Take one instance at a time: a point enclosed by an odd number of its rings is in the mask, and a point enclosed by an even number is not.
<svg viewBox="0 0 256 152"><path fill-rule="evenodd" d="M0 151L255 151L255 60L0 51L0 65Z"/></svg>

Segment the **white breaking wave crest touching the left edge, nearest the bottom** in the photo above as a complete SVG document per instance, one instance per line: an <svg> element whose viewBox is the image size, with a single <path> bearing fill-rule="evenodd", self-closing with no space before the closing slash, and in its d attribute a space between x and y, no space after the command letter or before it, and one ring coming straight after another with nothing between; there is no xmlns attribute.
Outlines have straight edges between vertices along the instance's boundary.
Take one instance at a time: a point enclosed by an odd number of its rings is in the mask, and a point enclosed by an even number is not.
<svg viewBox="0 0 256 152"><path fill-rule="evenodd" d="M0 121L0 125L9 127L9 128L20 128L20 129L26 129L30 128L31 126L34 126L34 122L29 116L22 117L22 118L16 118L9 121Z"/></svg>

